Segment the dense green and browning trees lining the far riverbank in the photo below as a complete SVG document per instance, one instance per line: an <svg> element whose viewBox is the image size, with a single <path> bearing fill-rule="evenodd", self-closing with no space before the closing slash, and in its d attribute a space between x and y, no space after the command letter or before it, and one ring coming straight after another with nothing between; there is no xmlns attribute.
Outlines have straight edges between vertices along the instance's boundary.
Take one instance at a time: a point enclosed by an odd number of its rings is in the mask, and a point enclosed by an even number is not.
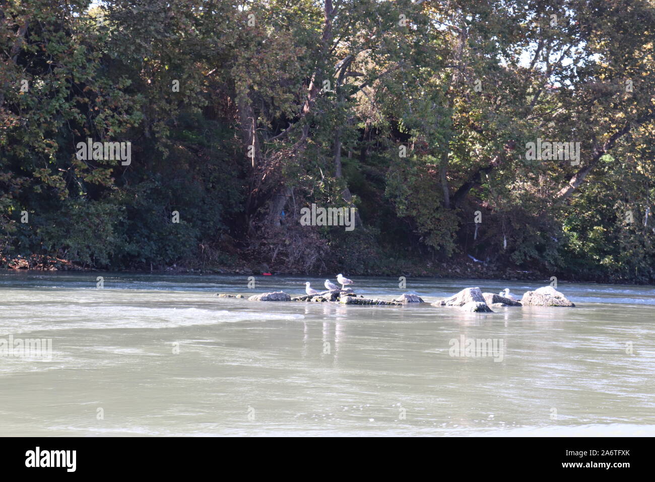
<svg viewBox="0 0 655 482"><path fill-rule="evenodd" d="M655 279L652 0L1 5L5 264Z"/></svg>

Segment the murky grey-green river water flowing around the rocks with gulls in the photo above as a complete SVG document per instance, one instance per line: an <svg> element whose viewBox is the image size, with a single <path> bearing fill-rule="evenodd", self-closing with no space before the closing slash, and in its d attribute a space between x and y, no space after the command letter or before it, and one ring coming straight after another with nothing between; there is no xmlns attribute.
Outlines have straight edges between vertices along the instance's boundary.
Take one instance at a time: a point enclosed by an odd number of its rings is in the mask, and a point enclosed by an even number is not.
<svg viewBox="0 0 655 482"><path fill-rule="evenodd" d="M655 435L652 286L484 315L215 296L306 280L1 271L0 338L43 345L0 355L0 435ZM354 281L428 302L548 284Z"/></svg>

